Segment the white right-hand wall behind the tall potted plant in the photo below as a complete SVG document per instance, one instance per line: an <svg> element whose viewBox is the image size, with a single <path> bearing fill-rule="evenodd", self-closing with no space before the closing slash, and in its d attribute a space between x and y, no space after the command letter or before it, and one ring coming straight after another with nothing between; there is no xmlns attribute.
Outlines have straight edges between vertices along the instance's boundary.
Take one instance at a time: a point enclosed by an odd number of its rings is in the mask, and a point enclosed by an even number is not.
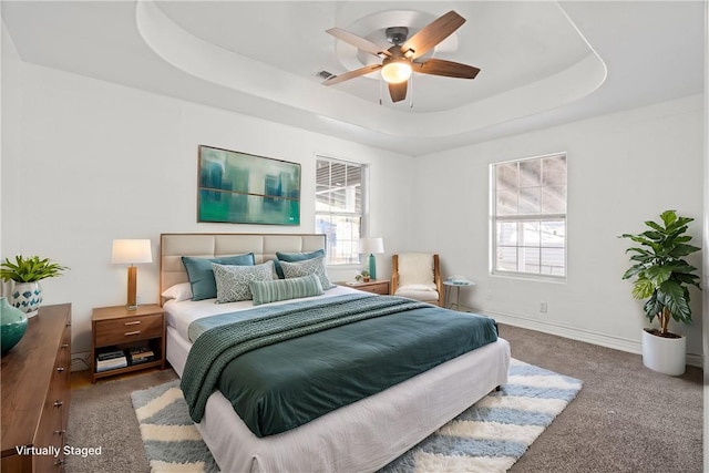
<svg viewBox="0 0 709 473"><path fill-rule="evenodd" d="M702 106L701 96L691 96L424 156L417 162L414 208L425 225L417 227L415 245L438 250L445 274L477 282L461 290L462 305L503 322L639 352L646 320L630 282L620 279L629 240L617 236L643 232L645 220L675 208L696 218L692 243L701 246ZM490 164L555 152L568 153L566 282L491 276ZM698 254L691 261L701 267ZM692 298L693 326L672 328L687 333L689 360L699 362L701 294Z"/></svg>

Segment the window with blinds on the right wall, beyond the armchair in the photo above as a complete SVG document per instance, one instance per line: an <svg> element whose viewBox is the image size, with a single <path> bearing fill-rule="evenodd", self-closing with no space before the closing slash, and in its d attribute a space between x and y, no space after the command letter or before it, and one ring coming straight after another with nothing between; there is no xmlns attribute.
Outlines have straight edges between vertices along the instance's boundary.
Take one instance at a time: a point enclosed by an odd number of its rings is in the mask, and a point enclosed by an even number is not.
<svg viewBox="0 0 709 473"><path fill-rule="evenodd" d="M493 164L494 274L566 277L566 154Z"/></svg>

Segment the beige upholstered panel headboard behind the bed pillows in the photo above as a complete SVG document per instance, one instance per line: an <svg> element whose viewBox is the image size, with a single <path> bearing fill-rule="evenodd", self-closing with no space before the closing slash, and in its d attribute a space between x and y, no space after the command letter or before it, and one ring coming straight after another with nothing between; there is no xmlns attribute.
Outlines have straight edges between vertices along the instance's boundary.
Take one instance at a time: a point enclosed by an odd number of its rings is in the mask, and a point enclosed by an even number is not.
<svg viewBox="0 0 709 473"><path fill-rule="evenodd" d="M326 249L325 235L315 234L162 234L160 236L160 292L187 282L183 256L212 258L253 253L256 264L276 259L276 251Z"/></svg>

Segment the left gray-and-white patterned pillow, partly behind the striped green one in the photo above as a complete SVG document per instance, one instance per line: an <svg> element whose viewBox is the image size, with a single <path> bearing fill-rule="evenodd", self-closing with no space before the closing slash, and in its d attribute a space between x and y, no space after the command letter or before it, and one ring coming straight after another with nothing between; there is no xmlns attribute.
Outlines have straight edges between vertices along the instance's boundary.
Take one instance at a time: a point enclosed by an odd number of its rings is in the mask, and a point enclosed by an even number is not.
<svg viewBox="0 0 709 473"><path fill-rule="evenodd" d="M217 304L250 300L251 281L268 281L274 278L274 261L256 266L225 266L212 264L217 286Z"/></svg>

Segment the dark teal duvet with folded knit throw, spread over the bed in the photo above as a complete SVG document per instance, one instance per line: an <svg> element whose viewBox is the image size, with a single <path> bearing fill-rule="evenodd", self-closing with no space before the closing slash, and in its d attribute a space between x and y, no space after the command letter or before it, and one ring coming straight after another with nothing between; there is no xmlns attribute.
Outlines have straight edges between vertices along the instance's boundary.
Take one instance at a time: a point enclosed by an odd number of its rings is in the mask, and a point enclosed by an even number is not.
<svg viewBox="0 0 709 473"><path fill-rule="evenodd" d="M393 296L348 295L197 320L182 390L195 422L222 391L273 435L497 339L494 320Z"/></svg>

